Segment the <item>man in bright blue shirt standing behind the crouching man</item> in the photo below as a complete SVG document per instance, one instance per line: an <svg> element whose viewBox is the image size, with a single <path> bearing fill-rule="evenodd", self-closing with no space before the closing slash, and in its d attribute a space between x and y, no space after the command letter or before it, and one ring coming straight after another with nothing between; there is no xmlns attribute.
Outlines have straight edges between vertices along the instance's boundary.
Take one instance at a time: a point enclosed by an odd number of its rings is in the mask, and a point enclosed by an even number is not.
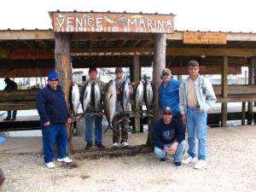
<svg viewBox="0 0 256 192"><path fill-rule="evenodd" d="M175 118L181 120L181 115L178 108L178 90L180 82L172 79L171 70L165 68L162 71L163 82L160 84L160 108L164 110L166 106L172 108L172 113Z"/></svg>

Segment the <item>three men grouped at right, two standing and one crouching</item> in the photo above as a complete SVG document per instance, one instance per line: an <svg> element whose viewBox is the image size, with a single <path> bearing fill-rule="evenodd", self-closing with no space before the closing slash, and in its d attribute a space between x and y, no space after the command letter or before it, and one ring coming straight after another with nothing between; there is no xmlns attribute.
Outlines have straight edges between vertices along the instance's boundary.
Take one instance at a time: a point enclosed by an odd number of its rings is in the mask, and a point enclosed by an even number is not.
<svg viewBox="0 0 256 192"><path fill-rule="evenodd" d="M210 81L200 75L197 61L189 61L188 71L189 76L181 83L172 79L170 69L162 71L160 107L163 118L154 125L154 154L161 161L166 161L167 154L174 154L176 166L195 163L194 168L201 169L207 166L207 110L216 102L216 96ZM183 160L185 127L189 156Z"/></svg>

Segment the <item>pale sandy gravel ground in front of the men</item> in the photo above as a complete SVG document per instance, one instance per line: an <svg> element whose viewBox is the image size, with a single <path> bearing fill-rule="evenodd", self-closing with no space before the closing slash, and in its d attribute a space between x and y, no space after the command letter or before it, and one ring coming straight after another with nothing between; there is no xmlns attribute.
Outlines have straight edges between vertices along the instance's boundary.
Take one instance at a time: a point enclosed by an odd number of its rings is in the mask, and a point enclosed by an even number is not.
<svg viewBox="0 0 256 192"><path fill-rule="evenodd" d="M132 135L133 141L146 138L146 134ZM40 153L3 147L0 166L6 180L0 191L256 191L256 126L209 129L208 166L199 171L192 165L177 169L172 157L160 163L152 153L75 160L76 168L57 163L48 170Z"/></svg>

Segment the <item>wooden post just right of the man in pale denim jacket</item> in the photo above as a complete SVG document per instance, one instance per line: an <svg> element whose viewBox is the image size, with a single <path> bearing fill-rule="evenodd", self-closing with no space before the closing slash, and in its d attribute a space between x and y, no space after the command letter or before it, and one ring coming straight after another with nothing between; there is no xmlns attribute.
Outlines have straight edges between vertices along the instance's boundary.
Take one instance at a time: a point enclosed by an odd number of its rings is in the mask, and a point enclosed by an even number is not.
<svg viewBox="0 0 256 192"><path fill-rule="evenodd" d="M228 56L224 56L224 62L222 66L222 76L221 76L221 93L223 97L228 96ZM228 105L227 102L221 103L221 126L227 126L227 113Z"/></svg>

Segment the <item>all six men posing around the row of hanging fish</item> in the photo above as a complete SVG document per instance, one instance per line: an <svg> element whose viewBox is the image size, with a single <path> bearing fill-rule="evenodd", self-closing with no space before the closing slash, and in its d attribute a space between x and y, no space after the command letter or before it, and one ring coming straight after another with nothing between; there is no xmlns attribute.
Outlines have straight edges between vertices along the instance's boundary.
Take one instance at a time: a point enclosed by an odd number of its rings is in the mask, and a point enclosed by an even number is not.
<svg viewBox="0 0 256 192"><path fill-rule="evenodd" d="M216 96L212 84L199 74L200 67L197 61L189 61L189 76L181 83L172 79L171 70L166 68L162 71L163 82L160 84L160 108L163 118L154 125L154 154L165 162L168 154L174 154L174 164L195 163L195 169L207 166L207 110L216 102ZM90 83L95 82L100 90L104 90L103 83L97 79L97 70L90 67ZM121 67L115 69L115 83L117 97L121 93L121 85L124 82ZM87 82L88 82L87 81ZM83 86L87 83L82 84ZM132 92L132 90L131 90ZM116 103L116 112L121 110L119 99ZM65 96L58 84L55 72L48 76L47 86L38 92L38 113L41 119L43 132L44 162L48 168L54 168L54 143L56 141L58 161L72 162L67 157L67 129L66 123L71 122L71 116L67 110ZM102 106L101 106L102 109ZM92 109L89 107L87 112ZM116 115L113 119L113 147L129 146L128 122ZM93 146L92 125L95 123L95 146L104 148L102 145L102 116L91 116L85 119L85 149ZM186 126L185 126L186 124ZM188 158L183 160L186 147L185 127L188 131L189 150ZM121 131L120 131L121 128ZM120 134L121 132L121 134ZM121 137L120 137L121 136ZM198 139L198 160L195 151L195 138ZM120 142L120 143L119 143Z"/></svg>

